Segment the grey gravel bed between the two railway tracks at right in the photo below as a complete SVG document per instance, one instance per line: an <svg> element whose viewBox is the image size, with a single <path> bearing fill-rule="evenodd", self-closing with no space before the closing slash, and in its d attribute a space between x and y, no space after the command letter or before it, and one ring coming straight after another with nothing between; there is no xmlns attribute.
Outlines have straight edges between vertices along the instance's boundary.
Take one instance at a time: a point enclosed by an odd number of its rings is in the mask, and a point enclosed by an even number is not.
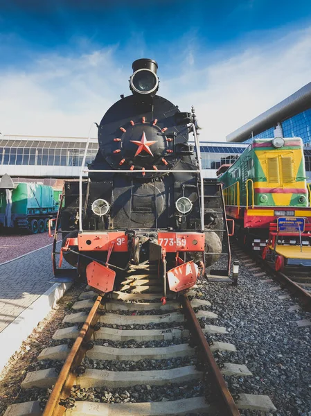
<svg viewBox="0 0 311 416"><path fill-rule="evenodd" d="M234 254L233 260L239 259ZM311 416L310 327L298 327L297 320L310 319L311 314L299 309L294 297L279 299L286 290L271 291L278 286L265 274L254 277L249 266L240 262L238 286L199 281L199 295L212 304L218 313L218 324L228 333L213 334L213 340L236 345L234 354L222 352L218 361L244 363L253 376L226 377L232 394L246 392L268 395L277 416ZM261 413L241 410L241 415Z"/></svg>

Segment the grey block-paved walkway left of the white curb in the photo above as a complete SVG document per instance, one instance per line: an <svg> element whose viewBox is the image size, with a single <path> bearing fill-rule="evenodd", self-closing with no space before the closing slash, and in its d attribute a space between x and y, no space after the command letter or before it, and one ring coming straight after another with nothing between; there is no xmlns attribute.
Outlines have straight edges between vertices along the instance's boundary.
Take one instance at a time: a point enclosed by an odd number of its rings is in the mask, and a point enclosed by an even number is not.
<svg viewBox="0 0 311 416"><path fill-rule="evenodd" d="M53 286L52 246L0 266L0 332Z"/></svg>

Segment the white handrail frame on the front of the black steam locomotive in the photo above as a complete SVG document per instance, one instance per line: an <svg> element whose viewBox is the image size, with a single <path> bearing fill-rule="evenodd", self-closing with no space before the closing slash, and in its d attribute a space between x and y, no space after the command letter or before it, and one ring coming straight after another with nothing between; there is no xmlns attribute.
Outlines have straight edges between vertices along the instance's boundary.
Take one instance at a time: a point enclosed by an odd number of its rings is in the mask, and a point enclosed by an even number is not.
<svg viewBox="0 0 311 416"><path fill-rule="evenodd" d="M135 169L133 171L131 171L130 169L96 169L96 170L89 170L89 168L85 167L85 160L87 159L87 150L89 149L89 142L91 139L91 128L93 127L93 125L96 125L96 123L92 123L91 127L89 128L89 137L87 138L87 144L85 146L85 154L83 155L83 159L82 159L82 165L81 165L81 171L80 171L80 176L79 176L79 230L80 232L83 231L83 227L82 227L82 177L85 173L154 173L154 169ZM197 136L197 130L195 128L195 124L194 123L190 123L190 125L188 125L188 127L192 128L192 132L193 132L193 136L195 138L195 150L197 153L197 169L193 169L193 170L189 170L189 171L185 171L185 170L177 170L174 169L172 171L164 171L161 169L157 170L157 173L198 173L199 174L199 180L200 180L200 205L201 205L201 209L200 209L200 215L201 215L201 230L204 231L204 183L203 183L203 173L202 173L202 159L201 159L201 152L200 152L200 148L199 148L199 138Z"/></svg>

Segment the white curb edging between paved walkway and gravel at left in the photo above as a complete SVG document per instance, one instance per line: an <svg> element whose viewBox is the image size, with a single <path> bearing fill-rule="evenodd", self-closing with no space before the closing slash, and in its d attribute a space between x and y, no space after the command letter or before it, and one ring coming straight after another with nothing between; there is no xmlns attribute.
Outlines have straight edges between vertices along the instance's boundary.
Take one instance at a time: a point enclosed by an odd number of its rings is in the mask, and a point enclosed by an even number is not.
<svg viewBox="0 0 311 416"><path fill-rule="evenodd" d="M71 287L72 282L55 283L43 295L39 296L33 304L28 306L23 312L13 320L8 327L0 332L0 372L8 363L12 354L26 340L37 324L46 318L49 311L64 296L64 293Z"/></svg>

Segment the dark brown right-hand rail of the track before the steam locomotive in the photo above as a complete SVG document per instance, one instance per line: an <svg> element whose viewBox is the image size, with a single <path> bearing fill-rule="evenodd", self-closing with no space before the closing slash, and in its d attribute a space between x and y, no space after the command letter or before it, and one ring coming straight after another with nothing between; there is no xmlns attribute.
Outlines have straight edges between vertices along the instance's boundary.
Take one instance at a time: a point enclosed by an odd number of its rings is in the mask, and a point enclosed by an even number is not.
<svg viewBox="0 0 311 416"><path fill-rule="evenodd" d="M202 354L204 364L208 365L208 368L211 371L217 392L219 392L222 397L222 406L224 406L224 413L222 413L222 415L239 416L240 412L238 410L238 406L236 406L233 397L226 386L224 377L215 362L211 348L209 347L204 333L199 325L199 321L195 316L195 312L190 304L190 300L188 300L188 296L182 295L179 300L183 306L183 312L186 320L189 322L189 331L193 335L195 343L197 343L197 346L199 347L199 353Z"/></svg>

